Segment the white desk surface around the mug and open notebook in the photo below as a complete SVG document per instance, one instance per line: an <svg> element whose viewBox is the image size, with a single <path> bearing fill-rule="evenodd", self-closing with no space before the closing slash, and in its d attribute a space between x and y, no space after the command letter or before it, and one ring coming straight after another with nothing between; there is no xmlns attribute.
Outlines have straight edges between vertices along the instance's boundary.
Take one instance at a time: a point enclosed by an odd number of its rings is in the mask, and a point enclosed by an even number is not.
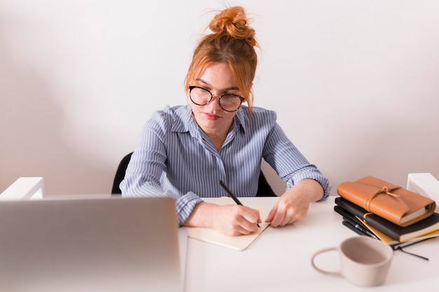
<svg viewBox="0 0 439 292"><path fill-rule="evenodd" d="M241 200L241 199L240 199ZM252 204L272 206L276 197L243 198ZM406 251L430 260L395 251L391 270L381 286L363 288L341 277L320 274L311 256L325 247L337 246L347 237L359 236L342 225L333 207L335 197L311 204L302 222L267 228L245 251L234 251L189 238L185 291L421 291L439 288L439 239L429 239ZM208 200L206 200L208 201ZM262 218L264 220L264 218ZM316 259L320 267L338 270L337 253Z"/></svg>

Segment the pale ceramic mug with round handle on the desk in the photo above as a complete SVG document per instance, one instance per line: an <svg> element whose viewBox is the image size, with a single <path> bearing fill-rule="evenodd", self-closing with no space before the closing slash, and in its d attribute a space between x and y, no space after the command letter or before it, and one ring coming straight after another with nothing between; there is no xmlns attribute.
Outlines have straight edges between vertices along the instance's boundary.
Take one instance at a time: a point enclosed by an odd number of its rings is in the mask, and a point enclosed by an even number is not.
<svg viewBox="0 0 439 292"><path fill-rule="evenodd" d="M314 263L320 253L337 251L340 271L322 270ZM372 237L357 236L345 239L339 246L322 249L313 254L311 265L323 274L342 276L358 286L378 286L386 279L393 258L393 249Z"/></svg>

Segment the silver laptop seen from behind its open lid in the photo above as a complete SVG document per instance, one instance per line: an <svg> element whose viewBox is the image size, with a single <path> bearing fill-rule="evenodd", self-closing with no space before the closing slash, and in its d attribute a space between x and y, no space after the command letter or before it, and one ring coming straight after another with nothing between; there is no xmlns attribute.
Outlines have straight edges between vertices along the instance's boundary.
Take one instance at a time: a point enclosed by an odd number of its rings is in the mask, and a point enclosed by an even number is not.
<svg viewBox="0 0 439 292"><path fill-rule="evenodd" d="M171 197L3 201L0 291L182 291L186 240Z"/></svg>

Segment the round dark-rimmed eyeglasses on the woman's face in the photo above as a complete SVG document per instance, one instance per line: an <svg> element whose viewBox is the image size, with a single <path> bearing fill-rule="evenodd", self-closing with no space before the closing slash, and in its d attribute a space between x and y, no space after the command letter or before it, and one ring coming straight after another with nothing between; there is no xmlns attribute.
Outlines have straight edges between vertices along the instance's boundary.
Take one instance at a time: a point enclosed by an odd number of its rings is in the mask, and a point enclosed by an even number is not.
<svg viewBox="0 0 439 292"><path fill-rule="evenodd" d="M245 100L244 97L231 95L229 93L226 93L225 95L217 95L217 97L219 98L218 102L221 109L229 111L229 113L238 111ZM191 99L191 102L194 102L197 106L206 106L212 102L213 95L212 92L205 88L189 86L189 98Z"/></svg>

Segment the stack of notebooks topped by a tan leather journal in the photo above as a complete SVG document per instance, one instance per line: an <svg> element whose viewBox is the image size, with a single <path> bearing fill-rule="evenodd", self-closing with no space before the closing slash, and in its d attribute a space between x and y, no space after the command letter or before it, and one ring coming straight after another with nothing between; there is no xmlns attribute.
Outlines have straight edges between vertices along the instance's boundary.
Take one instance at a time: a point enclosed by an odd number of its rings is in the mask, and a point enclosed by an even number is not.
<svg viewBox="0 0 439 292"><path fill-rule="evenodd" d="M345 181L337 187L335 211L360 235L391 246L439 236L435 202L374 176Z"/></svg>

